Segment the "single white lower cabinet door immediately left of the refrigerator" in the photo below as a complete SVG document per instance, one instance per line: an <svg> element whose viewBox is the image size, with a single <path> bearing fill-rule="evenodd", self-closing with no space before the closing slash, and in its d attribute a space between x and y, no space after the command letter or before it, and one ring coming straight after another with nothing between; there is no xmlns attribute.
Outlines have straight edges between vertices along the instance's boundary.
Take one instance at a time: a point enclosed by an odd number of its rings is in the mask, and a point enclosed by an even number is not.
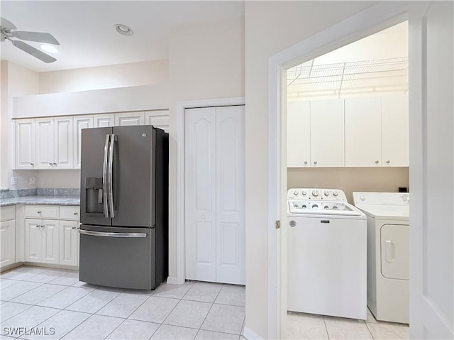
<svg viewBox="0 0 454 340"><path fill-rule="evenodd" d="M77 221L60 221L60 265L77 265L79 233Z"/></svg>

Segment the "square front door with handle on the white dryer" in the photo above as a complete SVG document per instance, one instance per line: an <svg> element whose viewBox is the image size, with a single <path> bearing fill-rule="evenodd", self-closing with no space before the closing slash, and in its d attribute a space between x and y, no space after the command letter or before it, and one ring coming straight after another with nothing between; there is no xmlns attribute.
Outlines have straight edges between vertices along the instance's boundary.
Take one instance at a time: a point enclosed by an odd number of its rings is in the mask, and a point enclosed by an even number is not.
<svg viewBox="0 0 454 340"><path fill-rule="evenodd" d="M409 226L383 224L380 231L382 275L409 279Z"/></svg>

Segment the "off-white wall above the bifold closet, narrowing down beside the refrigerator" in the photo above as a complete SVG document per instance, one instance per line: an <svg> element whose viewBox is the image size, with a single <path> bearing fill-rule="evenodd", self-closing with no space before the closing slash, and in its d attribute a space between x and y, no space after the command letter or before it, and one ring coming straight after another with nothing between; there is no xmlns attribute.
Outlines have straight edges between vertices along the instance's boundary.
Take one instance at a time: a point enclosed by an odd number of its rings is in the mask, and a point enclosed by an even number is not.
<svg viewBox="0 0 454 340"><path fill-rule="evenodd" d="M170 36L169 276L177 275L177 102L244 97L244 21L180 26Z"/></svg>

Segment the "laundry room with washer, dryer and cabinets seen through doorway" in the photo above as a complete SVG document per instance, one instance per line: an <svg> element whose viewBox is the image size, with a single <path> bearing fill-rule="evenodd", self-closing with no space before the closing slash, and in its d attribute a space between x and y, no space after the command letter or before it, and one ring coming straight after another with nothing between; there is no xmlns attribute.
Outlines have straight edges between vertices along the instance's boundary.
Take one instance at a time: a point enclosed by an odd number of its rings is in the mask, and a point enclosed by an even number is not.
<svg viewBox="0 0 454 340"><path fill-rule="evenodd" d="M362 320L358 339L408 331L408 36L404 21L287 70L290 339L338 317Z"/></svg>

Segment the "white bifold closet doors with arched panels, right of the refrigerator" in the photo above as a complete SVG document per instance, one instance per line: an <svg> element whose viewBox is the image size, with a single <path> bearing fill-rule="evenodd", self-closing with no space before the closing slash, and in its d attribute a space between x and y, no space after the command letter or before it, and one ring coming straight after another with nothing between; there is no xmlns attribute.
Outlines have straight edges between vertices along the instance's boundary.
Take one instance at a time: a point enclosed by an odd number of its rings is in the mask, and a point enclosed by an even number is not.
<svg viewBox="0 0 454 340"><path fill-rule="evenodd" d="M185 110L186 278L245 283L244 106Z"/></svg>

